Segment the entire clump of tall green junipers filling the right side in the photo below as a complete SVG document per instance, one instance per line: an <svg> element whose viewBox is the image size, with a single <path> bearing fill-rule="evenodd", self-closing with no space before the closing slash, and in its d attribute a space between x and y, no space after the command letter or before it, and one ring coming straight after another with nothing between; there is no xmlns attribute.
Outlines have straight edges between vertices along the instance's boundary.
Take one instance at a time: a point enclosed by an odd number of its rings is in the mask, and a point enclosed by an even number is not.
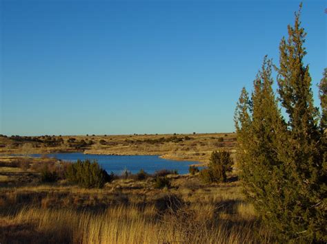
<svg viewBox="0 0 327 244"><path fill-rule="evenodd" d="M246 89L241 91L235 111L237 161L248 199L277 239L315 243L327 239L326 78L319 87L323 112L319 126L308 65L303 63L306 33L299 15L279 46L279 98L272 88L272 62L266 57L251 98Z"/></svg>

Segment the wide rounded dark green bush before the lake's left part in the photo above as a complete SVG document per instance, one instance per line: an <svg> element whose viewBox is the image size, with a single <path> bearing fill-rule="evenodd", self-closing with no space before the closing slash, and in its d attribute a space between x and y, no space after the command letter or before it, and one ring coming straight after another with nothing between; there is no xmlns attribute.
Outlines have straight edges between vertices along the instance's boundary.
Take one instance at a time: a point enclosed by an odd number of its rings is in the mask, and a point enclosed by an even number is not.
<svg viewBox="0 0 327 244"><path fill-rule="evenodd" d="M112 176L108 175L96 161L90 162L88 159L70 164L66 170L66 177L84 188L102 188L106 182L112 180Z"/></svg>

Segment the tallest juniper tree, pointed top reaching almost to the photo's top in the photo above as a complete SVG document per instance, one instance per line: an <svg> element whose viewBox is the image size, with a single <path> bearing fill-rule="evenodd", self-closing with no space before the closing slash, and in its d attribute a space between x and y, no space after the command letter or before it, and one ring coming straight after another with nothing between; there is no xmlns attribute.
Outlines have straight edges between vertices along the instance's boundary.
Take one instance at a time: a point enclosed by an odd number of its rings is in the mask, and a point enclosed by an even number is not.
<svg viewBox="0 0 327 244"><path fill-rule="evenodd" d="M294 26L288 25L287 41L282 38L279 45L278 92L288 115L288 128L278 146L279 160L285 164L284 186L280 189L284 212L279 219L288 225L275 227L284 238L317 241L323 238L326 224L321 195L324 170L319 150L318 110L313 105L309 67L304 65L306 32L301 27L300 14L301 5L295 13Z"/></svg>

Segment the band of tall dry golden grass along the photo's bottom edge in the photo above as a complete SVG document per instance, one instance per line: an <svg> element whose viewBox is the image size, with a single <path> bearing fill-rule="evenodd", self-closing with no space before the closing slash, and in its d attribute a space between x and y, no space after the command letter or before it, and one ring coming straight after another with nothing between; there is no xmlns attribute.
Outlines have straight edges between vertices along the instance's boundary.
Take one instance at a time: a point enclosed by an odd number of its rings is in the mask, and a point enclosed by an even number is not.
<svg viewBox="0 0 327 244"><path fill-rule="evenodd" d="M28 243L259 243L246 206L232 221L219 218L215 206L179 206L158 212L155 206L115 206L103 212L23 208L10 225L29 226ZM244 219L246 217L246 219ZM7 225L8 226L8 225ZM259 227L258 227L259 228ZM2 230L1 243L14 243L15 232ZM268 232L259 228L263 236Z"/></svg>

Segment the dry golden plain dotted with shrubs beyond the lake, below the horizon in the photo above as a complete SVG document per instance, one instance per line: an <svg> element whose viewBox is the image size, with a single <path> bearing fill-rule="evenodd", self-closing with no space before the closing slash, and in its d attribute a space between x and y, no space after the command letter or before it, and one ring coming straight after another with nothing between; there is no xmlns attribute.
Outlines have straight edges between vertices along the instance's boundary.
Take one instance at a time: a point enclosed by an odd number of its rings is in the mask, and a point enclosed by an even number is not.
<svg viewBox="0 0 327 244"><path fill-rule="evenodd" d="M208 163L214 150L233 151L234 133L183 135L79 135L4 137L0 154L76 152L107 155L161 155L167 159Z"/></svg>

